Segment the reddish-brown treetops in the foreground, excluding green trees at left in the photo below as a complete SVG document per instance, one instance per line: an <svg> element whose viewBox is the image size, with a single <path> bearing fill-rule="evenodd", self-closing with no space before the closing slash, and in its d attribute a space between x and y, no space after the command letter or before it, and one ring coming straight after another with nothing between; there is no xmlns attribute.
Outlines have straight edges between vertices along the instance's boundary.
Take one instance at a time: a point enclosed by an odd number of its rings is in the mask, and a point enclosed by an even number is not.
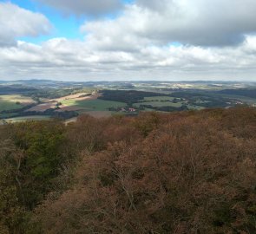
<svg viewBox="0 0 256 234"><path fill-rule="evenodd" d="M44 233L256 233L256 110L70 126L75 185L36 209Z"/></svg>

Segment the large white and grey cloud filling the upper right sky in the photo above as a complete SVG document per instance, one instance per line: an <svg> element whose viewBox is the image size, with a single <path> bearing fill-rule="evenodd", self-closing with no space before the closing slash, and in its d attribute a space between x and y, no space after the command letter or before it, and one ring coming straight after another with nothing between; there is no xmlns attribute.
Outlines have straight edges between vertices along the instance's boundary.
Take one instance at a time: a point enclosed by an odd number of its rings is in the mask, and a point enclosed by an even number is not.
<svg viewBox="0 0 256 234"><path fill-rule="evenodd" d="M137 0L118 18L84 23L81 29L107 49L132 48L134 41L220 47L256 32L255 10L255 0Z"/></svg>

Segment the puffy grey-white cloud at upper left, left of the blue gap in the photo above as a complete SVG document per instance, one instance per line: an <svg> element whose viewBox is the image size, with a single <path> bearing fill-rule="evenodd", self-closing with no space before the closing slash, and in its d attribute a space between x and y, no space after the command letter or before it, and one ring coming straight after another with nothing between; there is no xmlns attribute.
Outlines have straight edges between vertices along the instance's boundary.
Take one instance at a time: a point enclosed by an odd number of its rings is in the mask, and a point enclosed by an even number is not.
<svg viewBox="0 0 256 234"><path fill-rule="evenodd" d="M0 3L0 46L16 44L16 37L48 34L51 24L40 13L24 10L12 3Z"/></svg>

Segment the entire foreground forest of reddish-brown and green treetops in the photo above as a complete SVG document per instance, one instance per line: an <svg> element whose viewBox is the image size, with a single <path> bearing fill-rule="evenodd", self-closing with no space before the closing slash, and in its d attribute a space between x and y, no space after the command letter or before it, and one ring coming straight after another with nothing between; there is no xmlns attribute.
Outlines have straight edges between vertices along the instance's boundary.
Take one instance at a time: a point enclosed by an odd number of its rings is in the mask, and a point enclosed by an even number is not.
<svg viewBox="0 0 256 234"><path fill-rule="evenodd" d="M256 109L0 126L0 233L256 233Z"/></svg>

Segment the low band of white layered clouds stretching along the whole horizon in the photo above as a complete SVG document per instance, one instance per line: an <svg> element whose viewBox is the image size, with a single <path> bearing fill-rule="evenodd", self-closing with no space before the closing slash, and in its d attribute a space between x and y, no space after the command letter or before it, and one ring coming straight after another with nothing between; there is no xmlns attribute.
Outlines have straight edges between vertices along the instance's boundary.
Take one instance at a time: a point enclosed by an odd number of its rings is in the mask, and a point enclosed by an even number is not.
<svg viewBox="0 0 256 234"><path fill-rule="evenodd" d="M255 81L256 36L236 47L148 45L135 51L95 51L87 42L54 38L0 49L0 79ZM246 75L246 76L245 76Z"/></svg>

